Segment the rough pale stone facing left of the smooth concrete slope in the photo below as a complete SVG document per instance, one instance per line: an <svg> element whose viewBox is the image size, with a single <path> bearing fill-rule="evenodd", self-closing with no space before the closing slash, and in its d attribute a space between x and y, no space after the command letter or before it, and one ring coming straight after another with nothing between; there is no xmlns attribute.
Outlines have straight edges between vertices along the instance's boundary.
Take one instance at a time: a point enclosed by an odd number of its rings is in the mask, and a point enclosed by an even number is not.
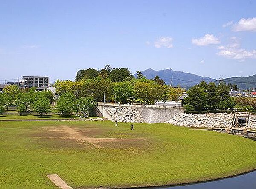
<svg viewBox="0 0 256 189"><path fill-rule="evenodd" d="M111 107L105 106L105 109L112 117L112 121L117 120L118 122L130 122L130 123L143 123L143 117L139 111L133 107Z"/></svg>

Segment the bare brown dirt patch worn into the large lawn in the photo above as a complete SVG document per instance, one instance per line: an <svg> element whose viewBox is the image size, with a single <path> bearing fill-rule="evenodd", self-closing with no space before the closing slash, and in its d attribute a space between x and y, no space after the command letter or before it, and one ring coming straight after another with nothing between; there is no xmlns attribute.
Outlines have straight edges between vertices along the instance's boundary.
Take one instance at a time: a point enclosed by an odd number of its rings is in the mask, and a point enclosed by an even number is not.
<svg viewBox="0 0 256 189"><path fill-rule="evenodd" d="M99 128L84 128L77 130L73 127L43 127L40 133L34 133L33 137L42 139L65 139L73 140L78 144L86 144L88 147L130 147L145 143L146 138L96 138L93 135L99 135L104 131ZM89 135L89 136L88 136Z"/></svg>

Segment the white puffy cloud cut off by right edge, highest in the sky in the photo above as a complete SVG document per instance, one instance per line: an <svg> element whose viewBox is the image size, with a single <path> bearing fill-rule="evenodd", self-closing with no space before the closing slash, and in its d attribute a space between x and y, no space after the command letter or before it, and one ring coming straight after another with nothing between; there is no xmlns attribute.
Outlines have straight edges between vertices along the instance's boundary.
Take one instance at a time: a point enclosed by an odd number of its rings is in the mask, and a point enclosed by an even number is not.
<svg viewBox="0 0 256 189"><path fill-rule="evenodd" d="M233 31L256 31L256 17L242 18L233 25Z"/></svg>

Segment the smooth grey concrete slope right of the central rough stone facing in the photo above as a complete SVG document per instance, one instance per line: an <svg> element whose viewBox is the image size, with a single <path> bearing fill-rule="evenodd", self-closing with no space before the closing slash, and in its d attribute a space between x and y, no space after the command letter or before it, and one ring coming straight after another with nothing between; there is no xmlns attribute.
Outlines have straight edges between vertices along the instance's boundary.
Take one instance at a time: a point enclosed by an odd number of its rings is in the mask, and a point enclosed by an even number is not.
<svg viewBox="0 0 256 189"><path fill-rule="evenodd" d="M135 107L143 117L145 123L164 123L178 113L183 113L183 108L151 108Z"/></svg>

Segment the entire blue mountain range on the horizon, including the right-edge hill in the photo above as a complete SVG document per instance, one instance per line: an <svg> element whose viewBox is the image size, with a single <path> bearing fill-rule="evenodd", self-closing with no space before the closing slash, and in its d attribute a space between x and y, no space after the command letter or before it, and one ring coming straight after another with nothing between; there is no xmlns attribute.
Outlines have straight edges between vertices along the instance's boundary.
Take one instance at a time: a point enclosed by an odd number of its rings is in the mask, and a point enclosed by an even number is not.
<svg viewBox="0 0 256 189"><path fill-rule="evenodd" d="M186 73L183 71L174 71L172 69L165 70L153 70L151 68L142 71L143 76L147 79L154 79L157 75L160 79L163 79L166 85L185 87L186 89L198 84L202 80L206 82L217 82L218 80L210 77L202 77L192 73ZM134 74L136 77L137 74ZM230 77L224 79L226 83L236 84L240 89L256 88L256 75L248 77Z"/></svg>

